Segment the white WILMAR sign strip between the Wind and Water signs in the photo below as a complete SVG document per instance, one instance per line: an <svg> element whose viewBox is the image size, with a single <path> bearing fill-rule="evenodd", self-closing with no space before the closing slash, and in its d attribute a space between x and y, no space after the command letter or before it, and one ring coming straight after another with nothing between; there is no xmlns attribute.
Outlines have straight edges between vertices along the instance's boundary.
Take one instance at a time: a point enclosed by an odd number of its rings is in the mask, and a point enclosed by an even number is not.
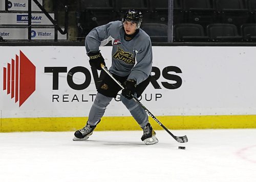
<svg viewBox="0 0 256 182"><path fill-rule="evenodd" d="M54 19L54 13L49 13ZM28 24L28 13L0 13L0 25L25 25ZM32 24L52 25L44 13L32 13Z"/></svg>

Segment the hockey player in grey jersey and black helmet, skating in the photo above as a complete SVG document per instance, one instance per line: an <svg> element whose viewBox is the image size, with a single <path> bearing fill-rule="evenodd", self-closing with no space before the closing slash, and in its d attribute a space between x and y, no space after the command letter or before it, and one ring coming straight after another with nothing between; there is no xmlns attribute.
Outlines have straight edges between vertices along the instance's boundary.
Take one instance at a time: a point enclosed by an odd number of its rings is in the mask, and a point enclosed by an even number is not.
<svg viewBox="0 0 256 182"><path fill-rule="evenodd" d="M93 29L86 37L86 51L90 65L101 70L105 65L99 46L112 40L112 66L109 71L124 89L120 99L134 119L143 129L141 140L145 144L158 142L156 133L148 122L144 109L134 100L139 97L150 83L152 70L152 45L150 37L140 29L142 13L128 10L122 21L113 21ZM97 95L91 107L86 126L75 132L74 141L87 140L100 122L106 107L121 88L106 75L97 88Z"/></svg>

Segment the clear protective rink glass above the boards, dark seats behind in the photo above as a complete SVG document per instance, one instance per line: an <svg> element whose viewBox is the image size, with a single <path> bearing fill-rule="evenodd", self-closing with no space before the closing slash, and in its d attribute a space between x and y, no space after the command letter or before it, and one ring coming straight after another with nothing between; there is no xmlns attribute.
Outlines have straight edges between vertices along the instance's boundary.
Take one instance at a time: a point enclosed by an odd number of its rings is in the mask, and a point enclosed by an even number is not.
<svg viewBox="0 0 256 182"><path fill-rule="evenodd" d="M32 13L31 25L28 16L29 2ZM31 39L83 42L93 28L110 21L122 20L128 9L138 9L143 14L140 28L150 35L153 43L255 42L255 2L255 0L2 0L0 41ZM69 13L66 16L67 7ZM68 33L65 34L66 32Z"/></svg>

